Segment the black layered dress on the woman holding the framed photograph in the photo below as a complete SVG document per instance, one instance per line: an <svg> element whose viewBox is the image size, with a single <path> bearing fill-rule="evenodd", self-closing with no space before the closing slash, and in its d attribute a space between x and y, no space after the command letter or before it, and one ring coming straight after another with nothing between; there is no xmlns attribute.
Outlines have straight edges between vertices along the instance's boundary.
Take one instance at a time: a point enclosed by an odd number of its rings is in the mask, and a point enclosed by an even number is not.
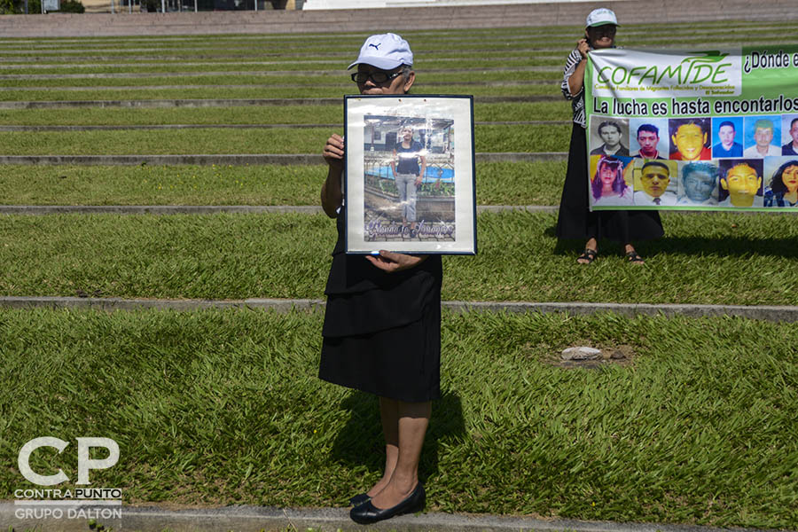
<svg viewBox="0 0 798 532"><path fill-rule="evenodd" d="M327 278L319 378L408 403L441 396L440 255L386 273L346 254L346 207Z"/></svg>

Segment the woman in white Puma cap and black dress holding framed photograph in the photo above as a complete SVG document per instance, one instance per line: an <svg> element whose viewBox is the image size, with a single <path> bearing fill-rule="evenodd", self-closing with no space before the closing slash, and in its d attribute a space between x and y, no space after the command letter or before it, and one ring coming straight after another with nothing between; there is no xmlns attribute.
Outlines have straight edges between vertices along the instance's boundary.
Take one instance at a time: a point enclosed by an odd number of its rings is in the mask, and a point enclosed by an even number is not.
<svg viewBox="0 0 798 532"><path fill-rule="evenodd" d="M372 35L349 68L357 66L352 79L361 94L404 94L415 80L412 63L402 37ZM442 266L440 255L345 254L343 155L343 138L332 135L324 150L322 207L338 218L338 241L325 289L319 377L379 396L385 472L350 499L352 519L372 523L424 507L419 457L430 402L441 395Z"/></svg>

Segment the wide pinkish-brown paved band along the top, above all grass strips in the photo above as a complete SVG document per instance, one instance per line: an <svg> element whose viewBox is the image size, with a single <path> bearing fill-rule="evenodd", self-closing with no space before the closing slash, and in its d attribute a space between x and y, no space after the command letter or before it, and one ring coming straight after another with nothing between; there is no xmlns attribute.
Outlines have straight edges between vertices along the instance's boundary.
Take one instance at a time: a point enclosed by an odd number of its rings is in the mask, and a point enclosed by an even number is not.
<svg viewBox="0 0 798 532"><path fill-rule="evenodd" d="M626 24L798 19L793 0L771 0L755 8L747 0L700 3L616 0L612 6L619 20ZM3 15L0 16L0 35L325 34L470 27L582 27L584 17L593 7L592 2L552 2L326 11Z"/></svg>

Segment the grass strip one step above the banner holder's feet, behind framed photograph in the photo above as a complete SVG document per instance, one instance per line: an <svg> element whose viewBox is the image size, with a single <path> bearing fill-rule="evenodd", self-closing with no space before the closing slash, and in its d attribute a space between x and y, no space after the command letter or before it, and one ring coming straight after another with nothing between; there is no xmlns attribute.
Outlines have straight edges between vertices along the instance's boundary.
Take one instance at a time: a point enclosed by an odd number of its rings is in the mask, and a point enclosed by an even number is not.
<svg viewBox="0 0 798 532"><path fill-rule="evenodd" d="M321 159L321 158L319 158ZM480 205L556 205L565 161L476 166ZM318 205L325 165L8 165L4 205Z"/></svg>

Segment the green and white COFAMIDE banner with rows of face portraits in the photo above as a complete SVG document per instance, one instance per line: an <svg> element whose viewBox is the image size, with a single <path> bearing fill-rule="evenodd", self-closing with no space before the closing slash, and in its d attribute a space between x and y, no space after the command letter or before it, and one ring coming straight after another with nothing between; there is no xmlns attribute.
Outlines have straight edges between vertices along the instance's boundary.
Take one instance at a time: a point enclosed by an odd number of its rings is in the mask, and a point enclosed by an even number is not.
<svg viewBox="0 0 798 532"><path fill-rule="evenodd" d="M589 59L591 210L798 207L798 46Z"/></svg>

